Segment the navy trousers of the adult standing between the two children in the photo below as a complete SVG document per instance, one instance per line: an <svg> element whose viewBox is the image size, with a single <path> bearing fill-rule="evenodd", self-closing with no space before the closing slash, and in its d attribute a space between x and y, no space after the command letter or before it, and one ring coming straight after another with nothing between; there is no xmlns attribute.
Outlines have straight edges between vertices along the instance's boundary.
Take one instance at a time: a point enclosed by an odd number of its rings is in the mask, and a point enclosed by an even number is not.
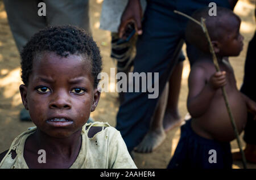
<svg viewBox="0 0 256 180"><path fill-rule="evenodd" d="M143 34L137 41L134 72L158 72L159 96L148 98L148 93L141 91L125 93L117 114L116 128L121 132L129 152L141 142L148 131L155 106L177 62L174 54L179 54L175 52L179 52L181 48L187 18L175 14L173 10L191 15L193 11L208 6L210 2L212 0L147 1L142 23ZM226 0L213 2L230 8ZM141 87L141 82L139 85Z"/></svg>

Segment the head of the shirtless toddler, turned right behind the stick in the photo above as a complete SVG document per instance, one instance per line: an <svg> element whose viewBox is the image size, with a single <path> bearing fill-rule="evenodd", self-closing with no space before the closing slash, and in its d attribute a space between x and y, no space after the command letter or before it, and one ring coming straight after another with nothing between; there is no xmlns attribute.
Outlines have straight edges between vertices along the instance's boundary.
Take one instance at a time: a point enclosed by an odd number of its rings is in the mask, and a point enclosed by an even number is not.
<svg viewBox="0 0 256 180"><path fill-rule="evenodd" d="M205 19L205 25L212 41L214 52L218 57L237 56L243 47L243 36L240 34L241 19L232 10L217 7L217 15L209 15L209 7L202 8L193 13L192 18L201 22ZM188 42L195 45L205 53L209 52L207 38L200 25L189 20L185 31Z"/></svg>

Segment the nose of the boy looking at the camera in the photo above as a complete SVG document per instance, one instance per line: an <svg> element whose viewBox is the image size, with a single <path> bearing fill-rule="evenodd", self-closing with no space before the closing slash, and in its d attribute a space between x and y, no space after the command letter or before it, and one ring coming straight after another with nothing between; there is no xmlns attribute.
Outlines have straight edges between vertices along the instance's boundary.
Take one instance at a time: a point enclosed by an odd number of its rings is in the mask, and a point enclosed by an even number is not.
<svg viewBox="0 0 256 180"><path fill-rule="evenodd" d="M59 93L49 103L49 108L51 108L51 109L71 109L71 103L68 101L68 97L67 97L67 95L65 95L65 93Z"/></svg>

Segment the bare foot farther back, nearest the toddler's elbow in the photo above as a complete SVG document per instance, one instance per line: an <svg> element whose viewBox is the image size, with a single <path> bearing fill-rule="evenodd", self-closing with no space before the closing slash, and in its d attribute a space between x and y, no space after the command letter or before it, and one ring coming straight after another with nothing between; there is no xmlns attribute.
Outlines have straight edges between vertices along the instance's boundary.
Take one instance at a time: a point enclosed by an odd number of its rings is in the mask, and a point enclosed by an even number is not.
<svg viewBox="0 0 256 180"><path fill-rule="evenodd" d="M180 118L180 115L166 111L163 119L164 131L170 131L177 126L180 126L182 122L183 119Z"/></svg>

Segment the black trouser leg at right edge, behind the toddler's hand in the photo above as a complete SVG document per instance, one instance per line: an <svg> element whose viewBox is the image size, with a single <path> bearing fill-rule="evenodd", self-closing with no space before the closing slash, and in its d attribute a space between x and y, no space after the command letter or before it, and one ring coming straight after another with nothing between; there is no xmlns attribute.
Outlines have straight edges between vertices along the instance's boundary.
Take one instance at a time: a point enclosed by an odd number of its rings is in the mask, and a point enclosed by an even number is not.
<svg viewBox="0 0 256 180"><path fill-rule="evenodd" d="M243 77L243 84L241 92L256 101L256 32L254 33L253 39L249 42L247 49L246 60L245 60L245 75ZM247 123L245 126L245 134L243 139L248 144L256 144L256 121L253 119L253 115L248 113Z"/></svg>

